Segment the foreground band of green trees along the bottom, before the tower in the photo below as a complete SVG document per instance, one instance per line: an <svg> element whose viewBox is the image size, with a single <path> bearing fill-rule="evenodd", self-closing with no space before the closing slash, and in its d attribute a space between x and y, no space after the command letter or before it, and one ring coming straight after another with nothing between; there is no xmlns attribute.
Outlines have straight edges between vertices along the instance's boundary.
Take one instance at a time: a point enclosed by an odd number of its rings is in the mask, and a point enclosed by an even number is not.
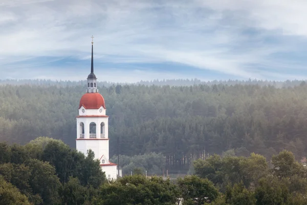
<svg viewBox="0 0 307 205"><path fill-rule="evenodd" d="M38 137L26 145L0 143L0 204L304 205L307 169L292 152L270 159L233 150L193 161L195 175L171 180L131 176L107 180L89 150Z"/></svg>

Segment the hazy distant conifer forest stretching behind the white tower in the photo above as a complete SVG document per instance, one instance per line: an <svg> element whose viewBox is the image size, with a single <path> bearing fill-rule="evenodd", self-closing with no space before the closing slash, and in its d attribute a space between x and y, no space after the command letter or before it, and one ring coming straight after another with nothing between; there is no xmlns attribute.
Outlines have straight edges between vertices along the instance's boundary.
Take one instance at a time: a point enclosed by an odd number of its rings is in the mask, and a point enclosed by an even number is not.
<svg viewBox="0 0 307 205"><path fill-rule="evenodd" d="M234 149L271 158L283 149L297 159L307 145L307 86L259 85L99 87L109 115L110 155L162 153L166 169ZM78 84L78 83L77 83ZM0 86L0 140L26 144L37 136L75 147L84 86Z"/></svg>

